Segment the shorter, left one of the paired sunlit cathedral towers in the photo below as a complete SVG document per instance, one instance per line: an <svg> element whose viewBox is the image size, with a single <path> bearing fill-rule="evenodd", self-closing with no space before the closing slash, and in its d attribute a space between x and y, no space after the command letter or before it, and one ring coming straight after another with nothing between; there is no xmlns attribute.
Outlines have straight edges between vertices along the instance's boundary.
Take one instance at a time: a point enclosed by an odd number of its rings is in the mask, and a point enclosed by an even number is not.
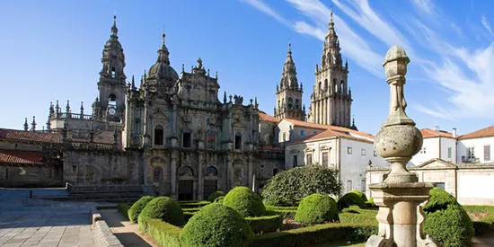
<svg viewBox="0 0 494 247"><path fill-rule="evenodd" d="M302 106L302 83L296 79L296 66L292 58L291 44L288 44L287 60L283 66L283 74L276 86L277 105L274 117L277 119L305 120L305 106Z"/></svg>

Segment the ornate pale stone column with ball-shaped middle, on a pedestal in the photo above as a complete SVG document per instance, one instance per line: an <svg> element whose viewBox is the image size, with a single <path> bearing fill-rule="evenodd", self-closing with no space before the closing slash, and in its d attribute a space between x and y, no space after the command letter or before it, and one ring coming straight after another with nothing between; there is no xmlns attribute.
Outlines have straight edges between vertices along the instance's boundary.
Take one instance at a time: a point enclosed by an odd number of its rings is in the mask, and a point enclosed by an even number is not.
<svg viewBox="0 0 494 247"><path fill-rule="evenodd" d="M405 113L403 86L410 58L398 46L391 48L384 58L386 82L390 85L390 112L375 137L375 151L388 163L391 172L381 183L370 184L374 201L379 206L376 218L379 232L372 235L366 247L438 246L431 237L424 236L422 223L425 216L421 205L428 200L433 185L419 182L417 174L407 170L411 156L422 146L422 135L415 122Z"/></svg>

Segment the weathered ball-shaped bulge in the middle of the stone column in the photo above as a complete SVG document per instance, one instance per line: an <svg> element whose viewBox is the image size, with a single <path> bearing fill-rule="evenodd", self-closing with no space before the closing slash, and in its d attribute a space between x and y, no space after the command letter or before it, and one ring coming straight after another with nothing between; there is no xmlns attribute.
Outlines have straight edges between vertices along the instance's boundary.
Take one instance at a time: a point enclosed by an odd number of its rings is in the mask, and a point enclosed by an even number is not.
<svg viewBox="0 0 494 247"><path fill-rule="evenodd" d="M375 136L375 153L385 158L408 157L420 151L423 137L412 125L393 125L382 128Z"/></svg>

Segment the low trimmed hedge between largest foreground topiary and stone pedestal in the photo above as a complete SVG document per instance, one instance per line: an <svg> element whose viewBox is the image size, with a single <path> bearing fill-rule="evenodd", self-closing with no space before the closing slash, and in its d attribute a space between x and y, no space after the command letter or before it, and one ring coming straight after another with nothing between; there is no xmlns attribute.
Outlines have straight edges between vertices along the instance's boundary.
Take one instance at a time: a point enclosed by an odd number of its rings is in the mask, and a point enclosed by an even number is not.
<svg viewBox="0 0 494 247"><path fill-rule="evenodd" d="M377 234L377 225L329 223L313 225L277 233L256 235L250 247L298 247L316 243L335 243L340 241L366 241Z"/></svg>

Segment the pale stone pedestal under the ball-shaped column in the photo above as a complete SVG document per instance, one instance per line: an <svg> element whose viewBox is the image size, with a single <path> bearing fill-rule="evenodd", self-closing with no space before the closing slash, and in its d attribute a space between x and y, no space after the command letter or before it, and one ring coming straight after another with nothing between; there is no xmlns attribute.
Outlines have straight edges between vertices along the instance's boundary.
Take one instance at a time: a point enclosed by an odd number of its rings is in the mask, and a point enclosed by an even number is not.
<svg viewBox="0 0 494 247"><path fill-rule="evenodd" d="M372 235L366 247L440 246L428 235L424 236L424 214L421 206L428 201L429 182L375 183L369 185L374 202L379 206L376 218L379 232Z"/></svg>

